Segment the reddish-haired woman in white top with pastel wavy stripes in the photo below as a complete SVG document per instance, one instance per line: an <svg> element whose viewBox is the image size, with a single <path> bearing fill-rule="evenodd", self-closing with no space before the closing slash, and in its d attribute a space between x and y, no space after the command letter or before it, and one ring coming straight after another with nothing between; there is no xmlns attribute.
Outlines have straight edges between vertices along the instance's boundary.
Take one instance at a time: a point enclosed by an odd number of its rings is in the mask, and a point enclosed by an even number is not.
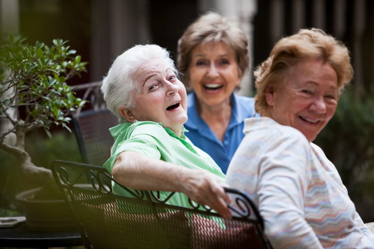
<svg viewBox="0 0 374 249"><path fill-rule="evenodd" d="M319 29L279 40L256 69L255 108L226 183L258 205L275 249L372 248L335 166L312 143L353 76L349 51Z"/></svg>

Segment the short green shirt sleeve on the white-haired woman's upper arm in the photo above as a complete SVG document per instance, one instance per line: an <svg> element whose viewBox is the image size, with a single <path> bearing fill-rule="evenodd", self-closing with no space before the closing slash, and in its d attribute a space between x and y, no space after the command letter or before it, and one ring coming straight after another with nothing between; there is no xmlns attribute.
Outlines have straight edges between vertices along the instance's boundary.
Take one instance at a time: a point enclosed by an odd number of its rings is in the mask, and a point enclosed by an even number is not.
<svg viewBox="0 0 374 249"><path fill-rule="evenodd" d="M144 156L149 156L154 159L160 159L161 153L157 149L157 141L154 137L147 134L137 134L118 144L116 151L110 156L104 164L110 174L112 173L113 165L120 153L124 151L133 151Z"/></svg>

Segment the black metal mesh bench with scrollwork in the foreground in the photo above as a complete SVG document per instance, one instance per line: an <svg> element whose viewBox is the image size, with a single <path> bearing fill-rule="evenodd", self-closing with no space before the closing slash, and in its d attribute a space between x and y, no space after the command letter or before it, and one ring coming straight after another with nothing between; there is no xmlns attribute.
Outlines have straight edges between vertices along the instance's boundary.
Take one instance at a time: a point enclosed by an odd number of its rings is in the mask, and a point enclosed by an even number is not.
<svg viewBox="0 0 374 249"><path fill-rule="evenodd" d="M114 179L100 166L65 161L51 166L86 248L272 248L256 206L239 190L225 189L234 200L233 218L225 220L191 200L189 208L166 204L174 193L160 199L158 192L121 186L133 197L116 195ZM80 174L71 178L77 169ZM92 186L77 184L87 174Z"/></svg>

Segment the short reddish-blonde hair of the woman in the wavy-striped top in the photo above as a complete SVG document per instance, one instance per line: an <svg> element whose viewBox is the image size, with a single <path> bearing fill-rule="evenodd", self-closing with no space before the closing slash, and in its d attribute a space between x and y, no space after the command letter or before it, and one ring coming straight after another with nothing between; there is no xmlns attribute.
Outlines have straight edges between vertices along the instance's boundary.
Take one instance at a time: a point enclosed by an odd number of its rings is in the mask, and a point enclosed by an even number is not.
<svg viewBox="0 0 374 249"><path fill-rule="evenodd" d="M323 59L337 74L337 87L343 89L353 77L349 50L341 42L321 29L300 29L297 34L283 37L273 47L270 56L254 71L256 79L255 110L263 114L268 105L265 89L269 84L279 84L285 72L303 59Z"/></svg>

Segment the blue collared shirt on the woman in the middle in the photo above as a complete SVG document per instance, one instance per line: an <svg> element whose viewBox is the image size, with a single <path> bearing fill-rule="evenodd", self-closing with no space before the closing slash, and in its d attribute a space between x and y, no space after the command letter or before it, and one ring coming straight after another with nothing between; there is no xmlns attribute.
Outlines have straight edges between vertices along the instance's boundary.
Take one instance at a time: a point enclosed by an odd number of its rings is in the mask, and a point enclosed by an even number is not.
<svg viewBox="0 0 374 249"><path fill-rule="evenodd" d="M255 102L253 98L232 94L232 114L229 127L221 142L205 121L200 118L196 107L196 96L192 92L187 95L188 120L184 127L188 130L186 136L220 166L226 174L227 167L237 147L244 137L244 119L255 115ZM256 113L256 116L260 116Z"/></svg>

